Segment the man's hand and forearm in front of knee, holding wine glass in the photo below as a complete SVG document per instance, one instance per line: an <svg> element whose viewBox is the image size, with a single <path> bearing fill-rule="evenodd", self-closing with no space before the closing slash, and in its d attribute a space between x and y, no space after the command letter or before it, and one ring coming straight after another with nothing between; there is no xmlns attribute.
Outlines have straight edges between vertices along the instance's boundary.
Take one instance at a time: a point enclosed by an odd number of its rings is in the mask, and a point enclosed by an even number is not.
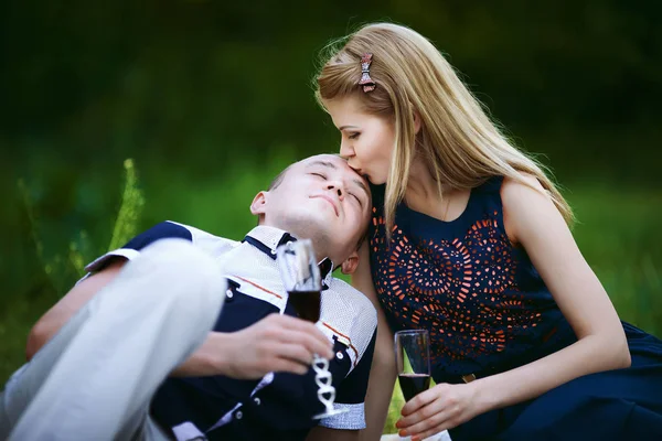
<svg viewBox="0 0 662 441"><path fill-rule="evenodd" d="M312 323L270 314L234 333L210 333L203 345L172 375L226 375L261 378L269 372L306 374L313 354L333 357L331 341Z"/></svg>

